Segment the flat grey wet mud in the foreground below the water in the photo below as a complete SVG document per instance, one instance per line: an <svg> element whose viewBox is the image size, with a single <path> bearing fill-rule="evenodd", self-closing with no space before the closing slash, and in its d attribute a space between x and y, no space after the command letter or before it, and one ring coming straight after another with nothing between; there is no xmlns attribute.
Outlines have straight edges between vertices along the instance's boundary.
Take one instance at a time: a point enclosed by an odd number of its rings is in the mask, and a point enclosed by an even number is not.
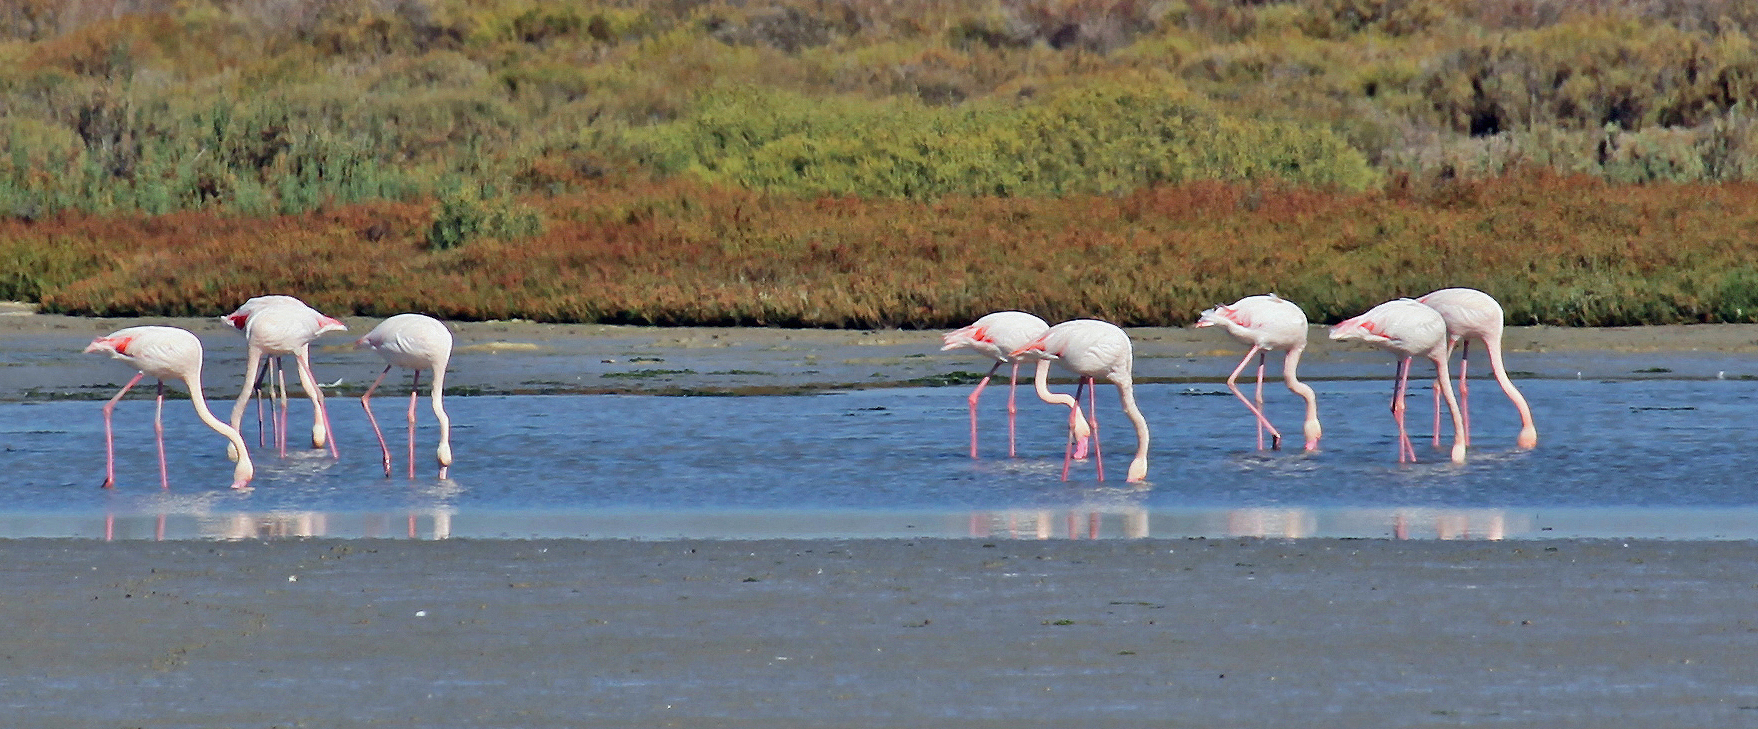
<svg viewBox="0 0 1758 729"><path fill-rule="evenodd" d="M1751 543L0 541L9 725L1758 724Z"/></svg>

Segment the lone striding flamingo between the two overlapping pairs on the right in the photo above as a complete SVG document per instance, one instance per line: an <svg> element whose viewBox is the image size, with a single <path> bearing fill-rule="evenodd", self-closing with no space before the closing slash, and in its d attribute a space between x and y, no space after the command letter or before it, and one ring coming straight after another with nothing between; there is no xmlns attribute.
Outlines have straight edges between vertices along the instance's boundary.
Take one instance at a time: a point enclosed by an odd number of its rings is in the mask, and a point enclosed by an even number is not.
<svg viewBox="0 0 1758 729"><path fill-rule="evenodd" d="M1287 379L1289 390L1306 401L1306 425L1303 427L1306 450L1318 450L1318 437L1324 434L1318 427L1318 397L1311 386L1296 378L1301 353L1306 351L1306 313L1297 304L1269 293L1245 297L1232 306L1217 306L1197 320L1197 327L1217 325L1224 327L1234 339L1252 346L1227 376L1227 390L1232 390L1234 397L1245 402L1245 408L1257 418L1257 450L1264 450L1264 429L1269 429L1269 446L1282 448L1282 432L1269 425L1269 418L1264 416L1264 353L1275 350L1287 351L1282 358L1282 378ZM1236 385L1239 372L1252 362L1252 355L1257 355L1257 404L1245 399Z"/></svg>

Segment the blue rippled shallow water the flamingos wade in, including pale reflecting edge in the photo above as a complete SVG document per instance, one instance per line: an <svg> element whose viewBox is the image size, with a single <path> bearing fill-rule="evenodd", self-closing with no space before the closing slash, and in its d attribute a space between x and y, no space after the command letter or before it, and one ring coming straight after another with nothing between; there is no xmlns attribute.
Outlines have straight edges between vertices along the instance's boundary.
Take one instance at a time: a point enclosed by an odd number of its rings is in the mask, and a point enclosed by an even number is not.
<svg viewBox="0 0 1758 729"><path fill-rule="evenodd" d="M434 478L425 399L420 476L406 478L406 399L376 401L397 476L385 478L359 401L332 399L341 458L257 450L248 492L227 488L225 443L186 401L167 402L171 488L158 485L153 402L116 413L118 488L100 490L98 402L0 404L0 536L76 538L1758 538L1754 455L1742 443L1758 383L1526 379L1540 446L1473 381L1473 450L1427 441L1431 392L1413 388L1413 466L1394 462L1387 381L1320 381L1324 450L1299 451L1299 399L1266 388L1294 450L1257 451L1222 385L1146 385L1150 483L1122 481L1134 434L1101 386L1109 481L1060 480L1065 411L1020 401L1006 455L1006 390L983 402L983 458L967 455L965 388L809 397L455 397L452 480ZM1060 388L1067 390L1067 388ZM309 443L295 402L290 443ZM248 425L255 439L255 425Z"/></svg>

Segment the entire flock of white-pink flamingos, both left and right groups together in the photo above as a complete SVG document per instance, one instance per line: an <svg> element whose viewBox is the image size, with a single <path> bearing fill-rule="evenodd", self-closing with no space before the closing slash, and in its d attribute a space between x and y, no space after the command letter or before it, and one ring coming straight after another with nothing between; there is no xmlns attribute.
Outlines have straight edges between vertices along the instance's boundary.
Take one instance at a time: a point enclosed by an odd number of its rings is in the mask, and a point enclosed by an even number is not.
<svg viewBox="0 0 1758 729"><path fill-rule="evenodd" d="M222 422L202 399L202 344L185 328L178 327L128 327L97 337L84 351L111 355L127 362L139 372L104 406L104 487L116 483L116 451L111 434L111 413L116 402L134 388L141 378L158 378L158 409L153 416L153 430L158 436L158 478L169 488L171 480L165 469L163 408L165 381L179 379L190 390L195 415L227 439L227 455L236 462L232 471L232 488L248 488L255 476L250 450L239 429L244 411L253 393L267 386L267 397L278 404L272 408L274 437L280 455L287 455L287 376L281 358L294 357L299 385L311 399L311 448L329 448L332 457L339 457L336 441L331 437L329 409L323 404L323 390L311 374L311 343L325 334L346 330L339 320L306 306L302 300L287 295L267 295L246 300L237 311L222 318L225 323L244 334L248 346L244 364L244 388L232 406L230 422ZM1257 420L1257 448L1264 448L1264 432L1269 432L1269 446L1282 448L1282 430L1276 430L1264 416L1264 365L1269 351L1283 351L1282 376L1289 390L1306 401L1306 422L1301 427L1304 448L1317 450L1324 430L1318 425L1318 399L1313 388L1296 376L1301 353L1306 350L1306 313L1290 300L1275 293L1239 299L1229 306L1208 309L1197 320L1197 327L1222 327L1234 339L1250 346L1239 365L1227 376L1227 388L1245 402ZM1515 439L1519 448L1538 444L1538 432L1533 427L1531 409L1526 399L1508 379L1501 364L1501 306L1487 293L1473 288L1443 288L1420 299L1398 299L1380 304L1368 313L1331 327L1331 339L1362 341L1399 357L1398 383L1392 393L1392 420L1398 423L1398 460L1415 462L1415 448L1405 430L1405 388L1410 376L1410 362L1426 357L1435 362L1435 444L1440 446L1440 402L1445 399L1452 413L1452 460L1463 462L1470 444L1470 416L1466 413L1466 357L1470 343L1477 339L1489 355L1489 367L1501 390L1514 401L1521 415L1521 434ZM1013 365L1007 393L1007 455L1016 453L1016 415L1014 395L1020 385L1020 364L1037 362L1035 390L1037 397L1050 404L1069 408L1069 437L1064 446L1062 478L1069 478L1069 467L1088 457L1088 446L1097 467L1097 476L1104 481L1104 460L1099 446L1097 385L1099 379L1116 385L1123 402L1123 415L1136 427L1136 457L1129 464L1129 481L1148 478L1148 422L1136 406L1130 371L1134 367L1134 350L1129 336L1116 325L1099 320L1072 320L1055 327L1023 311L999 311L979 318L976 323L946 332L942 336L948 350L972 350L984 358L995 360L988 374L977 381L970 392L970 457L977 457L977 399L990 378L1004 364ZM431 402L434 416L440 420L440 478L447 478L452 466L450 420L445 413L441 390L445 388L445 369L452 357L452 332L443 323L424 314L397 314L387 318L364 337L355 341L357 348L376 351L385 358L385 371L360 395L360 406L373 423L373 434L383 453L385 476L390 476L392 458L385 434L373 416L373 392L385 381L392 367L413 371L410 388L408 430L410 430L410 478L415 478L415 406L420 388L422 371L432 372ZM1459 364L1459 397L1454 397L1452 378L1447 362L1454 346L1463 346ZM1257 392L1248 399L1238 386L1239 374L1257 357ZM1051 392L1048 386L1050 364L1057 362L1078 378L1074 395ZM258 369L260 365L260 369ZM1081 415L1081 392L1086 392L1086 415ZM262 432L262 406L257 409L258 434ZM258 436L260 444L260 436Z"/></svg>

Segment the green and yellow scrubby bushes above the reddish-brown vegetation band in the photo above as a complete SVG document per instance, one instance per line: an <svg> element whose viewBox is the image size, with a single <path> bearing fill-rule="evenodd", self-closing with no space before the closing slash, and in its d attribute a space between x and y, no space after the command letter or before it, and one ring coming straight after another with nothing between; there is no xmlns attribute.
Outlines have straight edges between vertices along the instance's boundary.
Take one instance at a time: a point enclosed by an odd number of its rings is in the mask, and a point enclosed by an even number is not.
<svg viewBox="0 0 1758 729"><path fill-rule="evenodd" d="M1739 0L19 0L0 214L582 177L534 167L907 198L1751 179L1754 32Z"/></svg>

